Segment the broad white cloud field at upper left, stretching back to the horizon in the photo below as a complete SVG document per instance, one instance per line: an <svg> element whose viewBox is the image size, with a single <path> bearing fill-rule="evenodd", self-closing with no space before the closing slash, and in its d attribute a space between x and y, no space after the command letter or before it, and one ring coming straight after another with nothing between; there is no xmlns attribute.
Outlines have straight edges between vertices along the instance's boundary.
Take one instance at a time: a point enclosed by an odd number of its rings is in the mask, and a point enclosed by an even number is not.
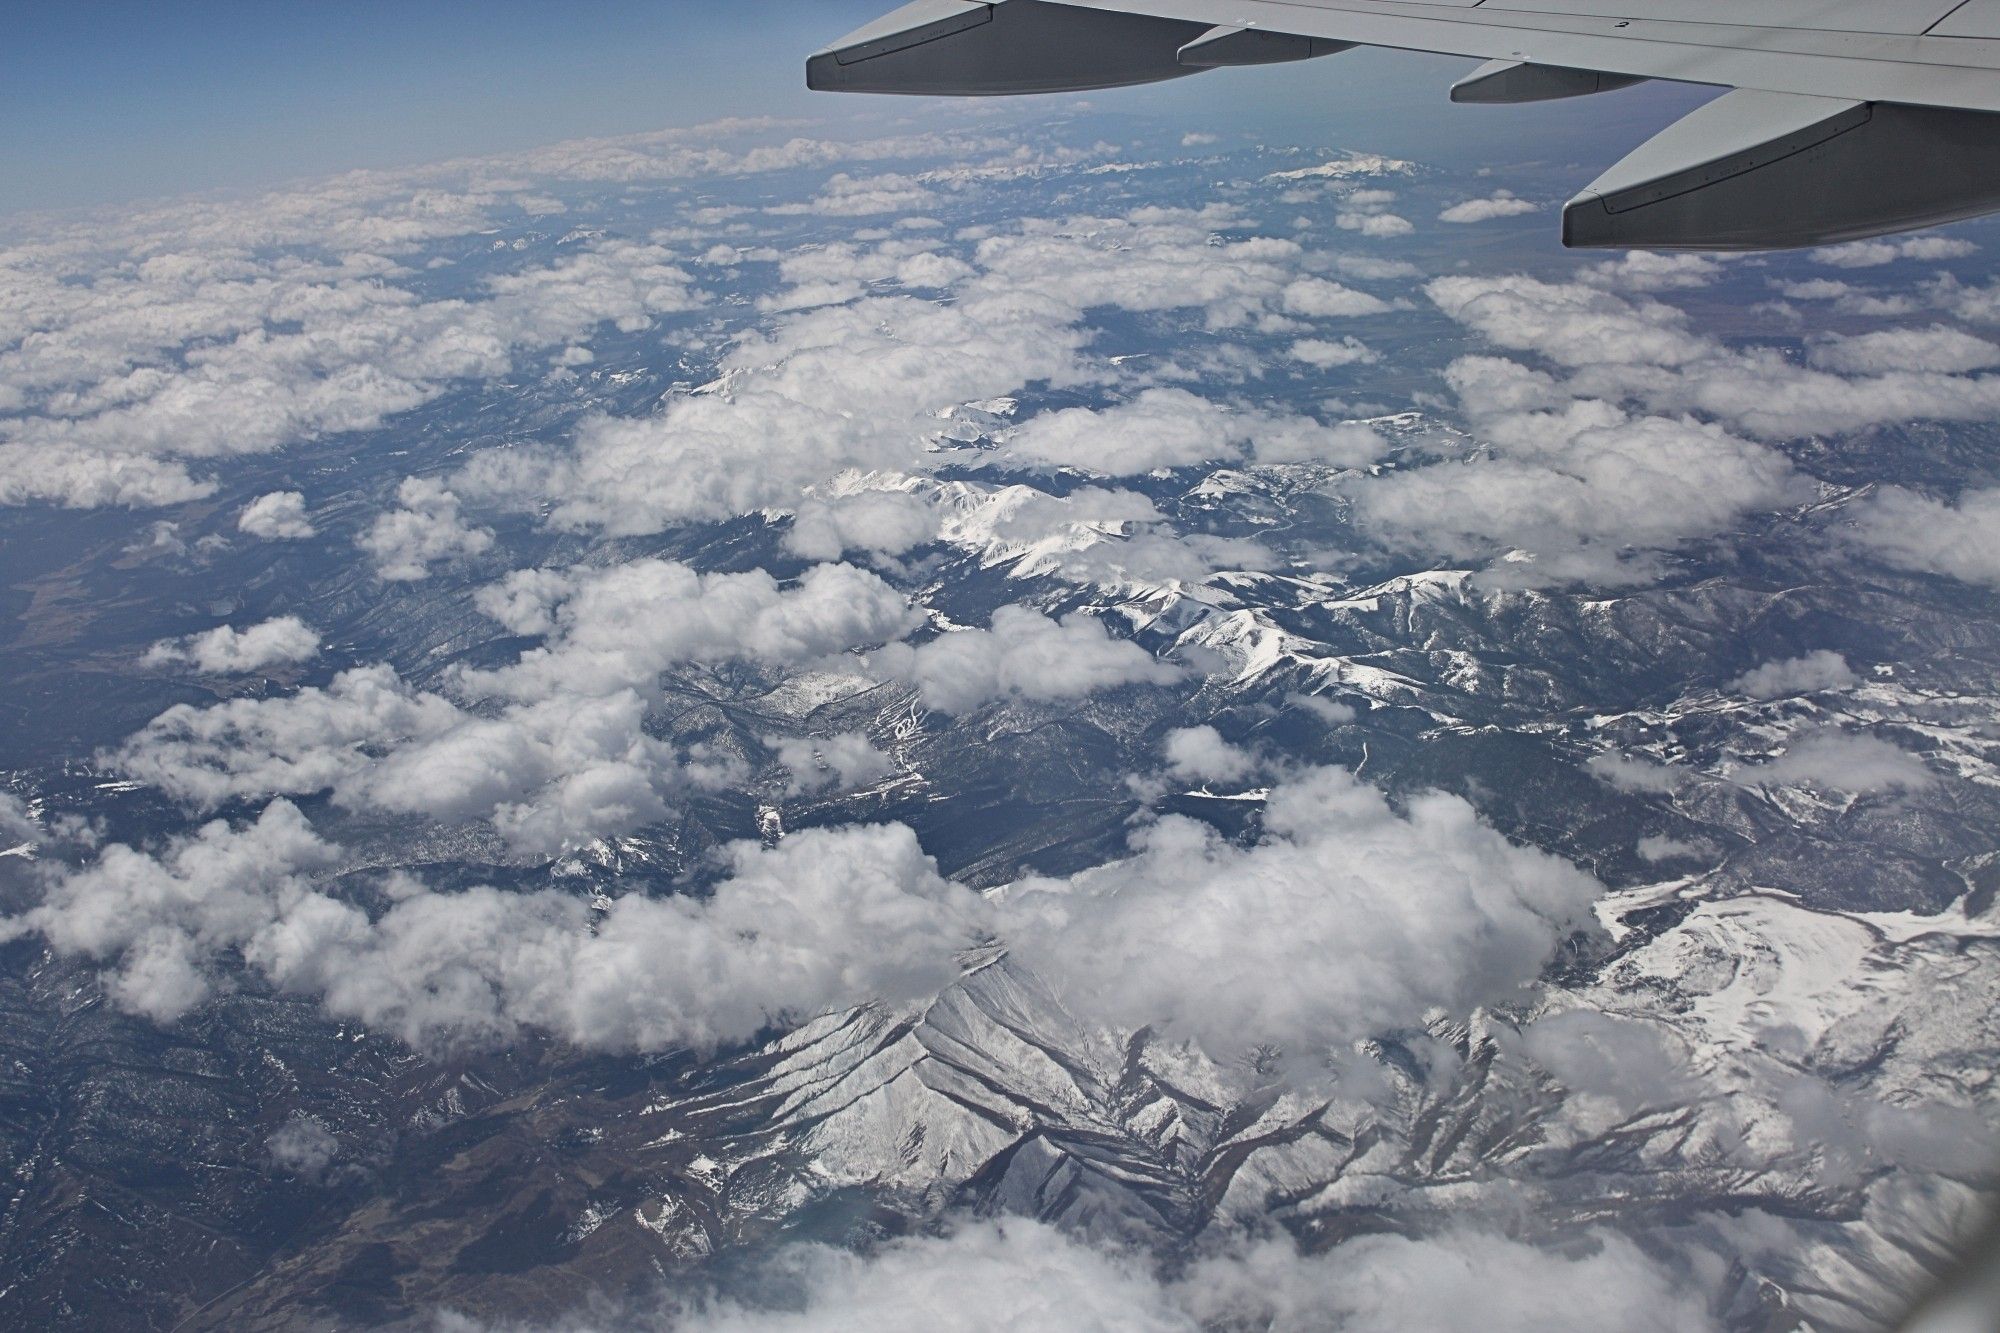
<svg viewBox="0 0 2000 1333"><path fill-rule="evenodd" d="M200 498L214 482L190 460L374 428L600 322L636 330L702 304L660 244L588 234L450 298L406 284L440 242L560 210L550 190L566 182L638 186L1018 148L982 132L820 140L772 138L776 128L718 122L576 140L16 228L0 248L0 410L10 414L0 504ZM848 180L830 198L858 208L866 184Z"/></svg>

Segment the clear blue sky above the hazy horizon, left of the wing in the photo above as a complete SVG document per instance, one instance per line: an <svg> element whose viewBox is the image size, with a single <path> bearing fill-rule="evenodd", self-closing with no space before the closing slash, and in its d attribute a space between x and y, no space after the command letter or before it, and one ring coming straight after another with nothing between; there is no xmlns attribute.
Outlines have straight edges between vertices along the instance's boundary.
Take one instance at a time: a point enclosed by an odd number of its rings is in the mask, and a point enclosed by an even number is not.
<svg viewBox="0 0 2000 1333"><path fill-rule="evenodd" d="M0 208L116 202L724 114L798 114L882 0L8 6Z"/></svg>

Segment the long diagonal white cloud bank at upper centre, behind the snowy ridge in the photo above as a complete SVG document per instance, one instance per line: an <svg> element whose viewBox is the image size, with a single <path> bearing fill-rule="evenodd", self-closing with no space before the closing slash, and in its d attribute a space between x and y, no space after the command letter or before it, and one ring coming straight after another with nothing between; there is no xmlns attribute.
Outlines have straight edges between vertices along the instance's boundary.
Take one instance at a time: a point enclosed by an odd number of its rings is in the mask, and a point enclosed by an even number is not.
<svg viewBox="0 0 2000 1333"><path fill-rule="evenodd" d="M1198 312L1212 328L1290 318L1286 292L1302 280L1304 250L1216 236L1232 222L1228 208L1140 208L1026 220L980 238L968 258L938 254L936 238L786 256L794 288L780 304L818 308L742 336L712 384L672 396L654 416L590 416L568 448L478 454L452 486L546 510L562 528L614 534L798 508L804 490L842 472L918 466L938 414L958 404L1110 378L1084 356L1096 308ZM950 282L952 300L864 294L886 278ZM1300 300L1334 294L1352 308L1376 300L1338 284L1302 288Z"/></svg>

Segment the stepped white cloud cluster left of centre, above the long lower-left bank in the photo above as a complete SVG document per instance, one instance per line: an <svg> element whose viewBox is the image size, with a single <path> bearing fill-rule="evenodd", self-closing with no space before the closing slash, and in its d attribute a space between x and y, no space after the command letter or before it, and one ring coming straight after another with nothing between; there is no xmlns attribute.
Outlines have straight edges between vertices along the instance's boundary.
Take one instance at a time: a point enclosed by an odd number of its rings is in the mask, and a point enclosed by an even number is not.
<svg viewBox="0 0 2000 1333"><path fill-rule="evenodd" d="M702 576L668 560L520 570L478 602L544 642L508 666L458 673L458 699L360 666L286 697L178 705L106 763L202 809L330 791L352 809L488 821L518 853L548 857L656 823L682 789L736 777L726 759L646 729L660 673L812 662L912 624L902 594L852 566L818 566L792 588L762 570Z"/></svg>

